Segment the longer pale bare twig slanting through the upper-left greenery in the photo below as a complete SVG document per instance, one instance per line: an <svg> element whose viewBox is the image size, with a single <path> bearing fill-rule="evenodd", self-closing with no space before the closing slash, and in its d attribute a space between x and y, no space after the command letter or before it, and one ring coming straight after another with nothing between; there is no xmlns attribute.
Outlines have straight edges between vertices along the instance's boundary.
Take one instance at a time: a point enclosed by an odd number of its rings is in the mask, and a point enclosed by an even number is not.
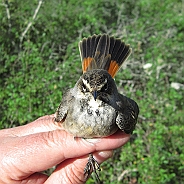
<svg viewBox="0 0 184 184"><path fill-rule="evenodd" d="M37 16L37 14L38 14L38 11L40 10L40 7L41 7L42 3L43 3L43 0L39 0L38 6L37 6L37 8L36 8L36 10L35 10L35 12L34 12L34 15L33 15L32 20L28 23L26 29L25 29L24 32L21 34L21 37L20 37L20 48L22 47L22 41L23 41L23 39L24 39L26 33L28 32L28 30L29 30L30 27L32 26L34 20L36 19L36 16Z"/></svg>

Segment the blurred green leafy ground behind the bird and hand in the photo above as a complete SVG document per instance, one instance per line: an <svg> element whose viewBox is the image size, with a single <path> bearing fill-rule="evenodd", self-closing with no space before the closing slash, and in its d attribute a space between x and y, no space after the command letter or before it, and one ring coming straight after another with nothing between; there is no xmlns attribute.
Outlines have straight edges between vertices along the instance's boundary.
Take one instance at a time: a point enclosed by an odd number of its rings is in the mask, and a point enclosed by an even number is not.
<svg viewBox="0 0 184 184"><path fill-rule="evenodd" d="M140 107L130 142L101 165L101 180L184 183L182 0L1 0L0 128L53 114L82 74L78 42L99 33L131 45L116 83Z"/></svg>

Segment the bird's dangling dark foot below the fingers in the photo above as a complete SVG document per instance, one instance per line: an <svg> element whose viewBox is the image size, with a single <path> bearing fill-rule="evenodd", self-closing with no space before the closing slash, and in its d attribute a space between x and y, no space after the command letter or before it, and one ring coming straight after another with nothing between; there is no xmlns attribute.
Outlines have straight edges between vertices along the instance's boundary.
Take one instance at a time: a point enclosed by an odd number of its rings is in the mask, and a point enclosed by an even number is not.
<svg viewBox="0 0 184 184"><path fill-rule="evenodd" d="M100 181L100 178L98 176L97 170L98 171L101 171L100 165L94 159L93 154L90 153L89 154L88 163L86 164L86 167L84 168L84 176L85 176L85 179L87 179L90 176L91 172L94 172L95 173L95 176L96 176L97 184L100 184L101 181Z"/></svg>

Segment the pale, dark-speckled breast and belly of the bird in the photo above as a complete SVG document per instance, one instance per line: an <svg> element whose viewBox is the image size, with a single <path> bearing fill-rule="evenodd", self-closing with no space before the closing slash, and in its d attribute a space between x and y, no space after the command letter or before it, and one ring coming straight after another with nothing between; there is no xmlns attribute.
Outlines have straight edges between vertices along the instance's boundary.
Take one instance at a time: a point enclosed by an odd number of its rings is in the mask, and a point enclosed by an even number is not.
<svg viewBox="0 0 184 184"><path fill-rule="evenodd" d="M79 96L78 96L79 97ZM63 123L75 137L105 137L117 131L117 111L107 103L90 95L75 98Z"/></svg>

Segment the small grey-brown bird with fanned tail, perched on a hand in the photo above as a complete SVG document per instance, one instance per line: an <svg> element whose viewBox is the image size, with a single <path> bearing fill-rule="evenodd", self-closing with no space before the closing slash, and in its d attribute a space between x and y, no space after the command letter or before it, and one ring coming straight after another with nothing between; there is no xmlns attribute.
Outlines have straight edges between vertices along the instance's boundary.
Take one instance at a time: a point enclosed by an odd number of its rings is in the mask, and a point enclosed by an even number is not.
<svg viewBox="0 0 184 184"><path fill-rule="evenodd" d="M114 76L131 54L131 48L107 34L93 35L79 42L83 74L63 96L55 121L74 137L107 137L118 129L131 134L135 129L139 107L118 93ZM89 177L100 166L89 153L84 175Z"/></svg>

